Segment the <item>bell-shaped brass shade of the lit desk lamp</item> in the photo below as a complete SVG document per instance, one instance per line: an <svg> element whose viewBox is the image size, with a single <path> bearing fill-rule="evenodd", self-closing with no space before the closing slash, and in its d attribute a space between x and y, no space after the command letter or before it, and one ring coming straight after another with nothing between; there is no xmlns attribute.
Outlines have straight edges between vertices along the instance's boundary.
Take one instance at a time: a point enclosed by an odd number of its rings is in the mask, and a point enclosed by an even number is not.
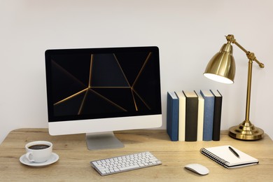
<svg viewBox="0 0 273 182"><path fill-rule="evenodd" d="M204 76L221 83L234 83L236 66L232 53L230 42L225 43L220 52L216 53L207 64Z"/></svg>

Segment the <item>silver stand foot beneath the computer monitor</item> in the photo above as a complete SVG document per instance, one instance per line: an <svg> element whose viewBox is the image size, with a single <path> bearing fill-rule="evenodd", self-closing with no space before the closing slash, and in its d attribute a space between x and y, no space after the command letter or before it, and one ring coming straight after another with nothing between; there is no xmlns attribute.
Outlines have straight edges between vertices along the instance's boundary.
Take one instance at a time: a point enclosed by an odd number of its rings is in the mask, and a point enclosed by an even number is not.
<svg viewBox="0 0 273 182"><path fill-rule="evenodd" d="M90 151L124 147L113 132L87 133L86 144Z"/></svg>

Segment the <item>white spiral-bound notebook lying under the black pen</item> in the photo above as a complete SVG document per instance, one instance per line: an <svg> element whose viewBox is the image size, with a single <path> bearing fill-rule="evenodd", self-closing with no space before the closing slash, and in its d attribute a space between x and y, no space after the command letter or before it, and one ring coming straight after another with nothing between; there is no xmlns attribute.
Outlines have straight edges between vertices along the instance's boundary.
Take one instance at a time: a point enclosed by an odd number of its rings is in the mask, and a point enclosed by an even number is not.
<svg viewBox="0 0 273 182"><path fill-rule="evenodd" d="M239 158L230 151L229 147L239 155ZM257 165L258 160L256 158L239 151L232 146L215 146L211 148L201 148L200 153L206 155L211 160L214 160L218 164L226 168L244 167L248 165Z"/></svg>

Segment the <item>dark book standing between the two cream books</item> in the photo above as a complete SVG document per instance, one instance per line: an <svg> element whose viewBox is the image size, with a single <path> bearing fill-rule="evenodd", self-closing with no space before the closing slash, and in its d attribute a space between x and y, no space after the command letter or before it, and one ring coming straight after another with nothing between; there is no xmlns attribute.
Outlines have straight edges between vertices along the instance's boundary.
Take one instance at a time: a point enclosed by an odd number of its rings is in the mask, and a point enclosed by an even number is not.
<svg viewBox="0 0 273 182"><path fill-rule="evenodd" d="M193 92L195 94L195 92ZM185 92L184 92L185 94ZM185 141L197 141L198 97L186 96L186 132Z"/></svg>

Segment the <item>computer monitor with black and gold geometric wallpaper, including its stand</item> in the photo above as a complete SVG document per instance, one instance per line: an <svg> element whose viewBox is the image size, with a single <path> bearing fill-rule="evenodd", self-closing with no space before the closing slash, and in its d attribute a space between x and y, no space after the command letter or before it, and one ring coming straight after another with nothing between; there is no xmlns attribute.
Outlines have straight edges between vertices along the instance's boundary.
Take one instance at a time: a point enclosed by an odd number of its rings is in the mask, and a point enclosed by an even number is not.
<svg viewBox="0 0 273 182"><path fill-rule="evenodd" d="M118 148L113 131L162 125L158 47L46 50L45 72L51 135Z"/></svg>

